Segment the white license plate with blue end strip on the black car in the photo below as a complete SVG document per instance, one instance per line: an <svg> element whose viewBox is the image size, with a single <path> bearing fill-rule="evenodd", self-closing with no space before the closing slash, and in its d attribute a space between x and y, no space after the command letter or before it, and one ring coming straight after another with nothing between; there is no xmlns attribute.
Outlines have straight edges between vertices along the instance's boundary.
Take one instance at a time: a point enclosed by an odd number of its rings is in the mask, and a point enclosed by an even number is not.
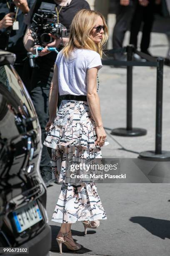
<svg viewBox="0 0 170 256"><path fill-rule="evenodd" d="M42 220L42 215L37 202L30 202L28 205L13 212L13 220L18 233L23 232Z"/></svg>

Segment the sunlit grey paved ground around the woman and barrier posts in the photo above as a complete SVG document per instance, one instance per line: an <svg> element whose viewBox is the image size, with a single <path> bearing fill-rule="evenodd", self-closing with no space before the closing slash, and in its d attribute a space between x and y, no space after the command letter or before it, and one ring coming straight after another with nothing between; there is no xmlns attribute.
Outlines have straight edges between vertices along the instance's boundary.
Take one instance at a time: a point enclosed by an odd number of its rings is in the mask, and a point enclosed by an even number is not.
<svg viewBox="0 0 170 256"><path fill-rule="evenodd" d="M155 42L162 47L155 46ZM166 37L154 33L151 52L165 56ZM100 74L102 119L107 131L108 146L102 148L103 157L137 158L144 150L155 147L155 89L156 69L135 67L133 71L133 124L148 130L146 136L124 138L110 135L110 129L125 127L126 70L105 66ZM163 149L170 150L170 68L164 68L163 93ZM122 150L126 148L128 151ZM148 163L146 162L146 165ZM72 225L72 234L84 247L74 255L110 256L169 256L170 255L170 185L151 183L97 184L107 214L96 230L83 236L82 223ZM58 255L55 236L60 224L51 216L60 192L60 185L47 188L47 213L52 228L50 255ZM70 255L63 249L63 255Z"/></svg>

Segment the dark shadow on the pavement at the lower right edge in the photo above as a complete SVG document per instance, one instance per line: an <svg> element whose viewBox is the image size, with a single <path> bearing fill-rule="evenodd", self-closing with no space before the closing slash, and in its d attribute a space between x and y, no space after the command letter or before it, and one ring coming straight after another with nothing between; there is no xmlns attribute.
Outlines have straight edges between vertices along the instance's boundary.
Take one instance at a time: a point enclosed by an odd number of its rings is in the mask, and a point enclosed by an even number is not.
<svg viewBox="0 0 170 256"><path fill-rule="evenodd" d="M162 239L170 239L170 220L161 220L150 217L136 216L131 217L130 221L140 224L154 236Z"/></svg>

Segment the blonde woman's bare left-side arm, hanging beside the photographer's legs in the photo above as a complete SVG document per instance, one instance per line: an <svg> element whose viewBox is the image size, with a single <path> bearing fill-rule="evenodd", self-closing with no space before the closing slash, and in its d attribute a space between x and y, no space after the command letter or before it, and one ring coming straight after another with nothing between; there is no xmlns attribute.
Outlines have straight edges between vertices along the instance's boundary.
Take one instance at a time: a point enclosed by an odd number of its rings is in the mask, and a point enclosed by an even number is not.
<svg viewBox="0 0 170 256"><path fill-rule="evenodd" d="M57 102L58 102L58 68L57 65L54 65L54 74L52 77L52 82L50 86L50 92L49 92L49 101L48 101L48 106L49 106L49 121L45 127L45 130L48 131L50 128L50 125L54 121L56 117L56 112L57 112Z"/></svg>

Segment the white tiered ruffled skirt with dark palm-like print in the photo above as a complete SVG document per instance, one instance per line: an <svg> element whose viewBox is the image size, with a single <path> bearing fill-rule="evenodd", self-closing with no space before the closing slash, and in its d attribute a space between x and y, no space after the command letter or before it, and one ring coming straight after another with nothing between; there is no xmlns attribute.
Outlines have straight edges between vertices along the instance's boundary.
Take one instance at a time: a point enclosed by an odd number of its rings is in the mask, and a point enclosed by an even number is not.
<svg viewBox="0 0 170 256"><path fill-rule="evenodd" d="M95 122L87 102L62 100L43 143L52 148L52 178L62 182L52 221L107 219L94 180L81 178L81 168L72 170L72 166L94 164L102 159L96 140ZM106 138L103 146L107 144Z"/></svg>

